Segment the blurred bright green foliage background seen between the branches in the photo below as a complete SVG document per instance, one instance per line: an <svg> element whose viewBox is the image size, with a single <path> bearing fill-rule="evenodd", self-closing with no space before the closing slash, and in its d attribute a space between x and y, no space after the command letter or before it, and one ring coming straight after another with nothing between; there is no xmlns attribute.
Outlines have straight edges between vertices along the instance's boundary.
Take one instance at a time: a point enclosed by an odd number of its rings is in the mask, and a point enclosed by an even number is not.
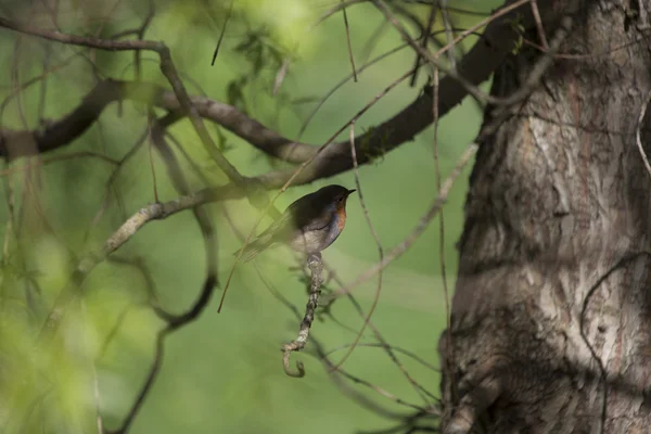
<svg viewBox="0 0 651 434"><path fill-rule="evenodd" d="M454 3L483 12L499 4ZM230 13L230 0L3 0L0 14L35 26L110 38L126 29L138 29L153 11L143 37L162 40L170 48L191 94L206 94L233 104L294 138L315 103L350 74L341 13L310 28L336 4L333 0L238 0L214 66L212 55ZM427 5L404 5L422 23L426 22ZM400 44L399 37L383 24L370 4L348 7L347 13L358 67ZM455 27L462 28L482 16L452 13L452 18ZM436 23L434 29L441 29L441 20ZM445 41L444 35L437 38ZM476 38L470 38L464 49L474 41ZM0 29L0 59L9 72L0 79L0 128L38 128L72 111L98 79L136 76L131 52L62 46L5 29ZM154 55L142 53L141 62L142 79L167 86ZM346 82L317 112L301 140L321 144L413 63L413 53L401 50L365 71L358 82ZM273 94L285 64L286 76ZM47 79L40 79L42 76ZM426 76L425 66L417 86L409 87L407 80L384 97L357 122L357 133L373 128L409 103L422 89ZM472 101L464 101L441 122L438 143L444 177L473 139L480 119L481 111ZM264 157L229 131L218 126L210 128L215 141L244 175L284 166ZM200 292L205 272L203 240L187 212L145 226L114 258L97 267L85 281L81 294L65 310L55 336L39 337L49 309L79 258L99 248L127 216L154 202L154 179L162 201L177 196L149 142L137 144L145 132L146 107L127 102L112 104L97 125L69 145L39 158L5 164L1 170L2 433L97 432L98 408L107 427L118 426L144 381L155 334L163 327L145 306L151 286L159 303L174 312L184 311ZM202 179L212 184L226 181L187 120L169 132L182 146L175 148L175 154L193 189L205 187ZM432 141L430 128L413 143L376 155L372 164L360 168L365 199L386 248L407 235L436 196ZM106 159L75 155L93 152L120 159L130 150L130 159L119 168ZM51 157L60 159L48 161ZM278 205L284 208L328 183L352 188L353 174L292 188ZM449 288L454 288L455 242L461 231L465 188L462 179L444 212ZM231 224L246 233L257 214L246 201L208 208L218 231L218 267L225 279L233 265L231 253L240 246ZM268 222L265 219L264 225ZM436 220L410 251L385 270L372 318L390 343L432 365L436 365L436 343L445 327L438 243ZM346 282L378 260L376 245L357 197L349 201L346 230L324 252L324 259ZM293 256L279 248L263 254L257 266L265 280L303 311L305 281L295 269ZM309 345L294 355L305 362L307 376L285 376L279 348L295 337L298 321L260 280L253 265L240 265L231 285L222 314L217 315L216 304L212 303L199 321L167 340L159 376L131 432L348 433L387 426L387 420L356 405L336 388ZM330 282L329 288L336 285ZM356 290L365 310L372 303L374 291L374 280ZM323 315L323 321L315 322L314 336L327 349L350 343L363 320L345 299L337 301L329 312L332 318ZM375 341L368 331L362 342ZM437 393L435 371L413 359L400 359L413 378ZM381 348L357 348L344 368L406 401L422 405ZM359 390L384 406L407 410L370 390Z"/></svg>

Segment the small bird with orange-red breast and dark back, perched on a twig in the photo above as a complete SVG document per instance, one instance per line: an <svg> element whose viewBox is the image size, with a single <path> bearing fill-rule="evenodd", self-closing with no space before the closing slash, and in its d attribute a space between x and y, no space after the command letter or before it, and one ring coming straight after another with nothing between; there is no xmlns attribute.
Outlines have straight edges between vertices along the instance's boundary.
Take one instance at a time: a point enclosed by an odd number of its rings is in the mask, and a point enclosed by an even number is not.
<svg viewBox="0 0 651 434"><path fill-rule="evenodd" d="M344 230L346 200L354 191L332 184L296 200L278 220L246 245L242 259L246 263L275 243L288 244L307 255L320 253Z"/></svg>

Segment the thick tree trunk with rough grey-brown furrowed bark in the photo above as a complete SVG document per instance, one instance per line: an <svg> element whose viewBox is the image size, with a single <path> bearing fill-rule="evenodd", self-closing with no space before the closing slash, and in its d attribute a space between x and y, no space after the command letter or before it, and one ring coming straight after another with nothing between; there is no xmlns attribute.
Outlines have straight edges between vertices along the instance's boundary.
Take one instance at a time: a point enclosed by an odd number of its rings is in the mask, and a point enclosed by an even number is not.
<svg viewBox="0 0 651 434"><path fill-rule="evenodd" d="M584 3L561 52L591 56L557 61L481 143L439 342L445 433L651 432L644 8ZM539 55L506 62L493 94L518 89Z"/></svg>

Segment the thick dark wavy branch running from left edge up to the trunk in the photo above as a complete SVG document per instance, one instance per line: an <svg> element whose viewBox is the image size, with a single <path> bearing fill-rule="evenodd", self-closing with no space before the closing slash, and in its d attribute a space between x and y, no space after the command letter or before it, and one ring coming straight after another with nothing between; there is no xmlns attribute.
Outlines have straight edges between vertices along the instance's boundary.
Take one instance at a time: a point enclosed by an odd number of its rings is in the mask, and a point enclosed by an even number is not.
<svg viewBox="0 0 651 434"><path fill-rule="evenodd" d="M548 20L551 13L550 1L540 1L538 7L542 20ZM535 26L528 2L518 8L513 8L513 4L505 9L507 8L510 11L490 22L486 27L484 38L458 63L455 75L463 77L464 84L451 76L446 76L441 80L439 117L446 115L468 95L469 85L476 87L487 80L511 52L519 38L519 34L512 25L516 16L518 23L525 28ZM0 26L7 26L7 22L0 22ZM129 42L125 42L125 47L120 48L132 49L133 46ZM103 81L84 99L75 111L63 119L51 123L43 130L0 131L0 156L14 158L64 146L84 133L108 103L120 99L152 102L159 107L178 113L178 118L181 118L184 113L188 113L181 105L187 103L179 103L176 94L178 92L166 91L152 84ZM190 97L190 103L199 116L221 125L270 156L290 163L304 163L314 157L318 151L317 146L295 142L279 135L228 104L203 97ZM432 97L430 92L425 91L395 116L358 137L355 145L359 155L359 164L368 163L412 140L433 122L431 106ZM33 145L29 145L30 143ZM305 183L333 176L352 167L348 141L333 143L308 166L308 170L299 179L296 179L296 182ZM282 186L288 179L284 174L279 175L278 173L268 174L263 178L263 182L268 188ZM279 181L279 179L283 181Z"/></svg>

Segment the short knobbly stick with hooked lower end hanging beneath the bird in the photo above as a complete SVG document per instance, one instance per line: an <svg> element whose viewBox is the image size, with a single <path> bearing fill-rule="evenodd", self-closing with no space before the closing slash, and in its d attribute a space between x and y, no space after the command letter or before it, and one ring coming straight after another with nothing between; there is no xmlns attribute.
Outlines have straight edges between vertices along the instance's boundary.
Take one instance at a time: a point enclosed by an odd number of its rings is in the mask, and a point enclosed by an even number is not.
<svg viewBox="0 0 651 434"><path fill-rule="evenodd" d="M292 355L292 352L299 352L305 348L309 336L309 328L315 320L315 310L319 305L321 284L323 283L323 264L321 263L321 254L309 255L307 258L307 266L309 267L311 275L311 282L309 288L309 298L305 306L305 316L303 317L303 321L301 321L298 336L291 343L285 344L282 348L282 368L288 375L294 378L305 376L305 368L302 361L296 361L296 371L290 368L290 356Z"/></svg>

